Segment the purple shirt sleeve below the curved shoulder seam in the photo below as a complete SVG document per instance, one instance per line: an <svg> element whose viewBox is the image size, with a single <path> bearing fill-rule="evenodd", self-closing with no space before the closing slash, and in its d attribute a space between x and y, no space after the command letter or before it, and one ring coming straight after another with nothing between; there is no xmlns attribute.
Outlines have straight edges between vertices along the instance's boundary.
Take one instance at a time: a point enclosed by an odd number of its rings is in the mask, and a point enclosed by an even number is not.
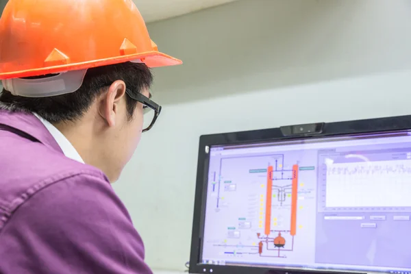
<svg viewBox="0 0 411 274"><path fill-rule="evenodd" d="M142 240L108 181L92 169L76 169L50 182L37 185L11 215L0 217L8 220L0 229L5 262L0 273L25 268L33 273L151 274Z"/></svg>

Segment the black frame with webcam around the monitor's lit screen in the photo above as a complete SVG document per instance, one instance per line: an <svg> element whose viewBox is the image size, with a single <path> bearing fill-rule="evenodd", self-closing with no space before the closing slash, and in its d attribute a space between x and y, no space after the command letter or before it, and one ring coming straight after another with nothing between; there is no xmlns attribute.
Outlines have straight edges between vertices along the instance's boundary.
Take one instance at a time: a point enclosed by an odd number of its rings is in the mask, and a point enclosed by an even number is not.
<svg viewBox="0 0 411 274"><path fill-rule="evenodd" d="M303 134L299 134L300 129ZM306 131L306 129L313 129ZM273 269L251 266L223 266L202 264L200 262L203 229L205 222L206 187L208 184L208 164L210 154L208 149L215 145L241 145L250 142L272 142L278 140L307 140L307 138L322 138L330 136L350 136L371 134L377 132L396 132L411 129L411 115L395 116L379 119L344 121L335 123L315 123L310 125L292 125L272 129L260 129L247 132L232 132L210 134L200 137L199 157L197 164L197 184L195 190L195 207L192 223L192 240L190 252L190 273L212 274L309 274L330 273L343 274L336 271L302 271L292 269ZM210 271L211 270L211 271Z"/></svg>

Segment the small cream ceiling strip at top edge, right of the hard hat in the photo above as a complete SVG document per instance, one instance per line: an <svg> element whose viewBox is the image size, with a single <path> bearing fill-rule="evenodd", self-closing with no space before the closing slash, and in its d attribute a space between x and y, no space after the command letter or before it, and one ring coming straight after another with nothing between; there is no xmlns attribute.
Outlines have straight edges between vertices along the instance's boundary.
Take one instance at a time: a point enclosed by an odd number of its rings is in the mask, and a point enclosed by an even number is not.
<svg viewBox="0 0 411 274"><path fill-rule="evenodd" d="M147 23L196 12L236 0L133 0Z"/></svg>

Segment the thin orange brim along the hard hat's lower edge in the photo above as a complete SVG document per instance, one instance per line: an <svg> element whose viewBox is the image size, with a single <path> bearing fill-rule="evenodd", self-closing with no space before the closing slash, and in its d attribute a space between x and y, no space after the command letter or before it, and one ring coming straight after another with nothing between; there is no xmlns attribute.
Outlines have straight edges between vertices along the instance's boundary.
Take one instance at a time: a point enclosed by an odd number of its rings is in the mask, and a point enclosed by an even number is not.
<svg viewBox="0 0 411 274"><path fill-rule="evenodd" d="M71 64L60 64L56 66L42 67L38 69L28 69L24 71L12 71L7 73L0 73L0 79L12 79L30 76L47 75L51 73L62 73L66 71L75 71L80 69L90 69L96 66L106 66L109 64L119 64L127 61L141 60L149 68L156 68L160 66L175 66L182 64L182 60L173 58L170 55L159 51L148 51L144 53L136 53L129 55L121 55L112 58L105 58L101 60L92 60L90 62L79 62Z"/></svg>

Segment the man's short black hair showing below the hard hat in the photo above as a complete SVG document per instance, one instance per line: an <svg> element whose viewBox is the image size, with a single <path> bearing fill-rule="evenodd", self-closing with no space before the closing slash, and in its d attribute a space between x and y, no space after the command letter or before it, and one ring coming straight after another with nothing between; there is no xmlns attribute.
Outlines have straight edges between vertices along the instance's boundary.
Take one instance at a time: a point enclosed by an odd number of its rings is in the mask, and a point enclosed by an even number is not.
<svg viewBox="0 0 411 274"><path fill-rule="evenodd" d="M0 110L32 112L50 123L76 121L82 118L93 101L116 80L123 80L131 92L150 88L153 75L142 63L125 62L88 69L82 86L75 92L54 97L21 97L3 89L0 93ZM132 119L137 101L126 96L127 118Z"/></svg>

